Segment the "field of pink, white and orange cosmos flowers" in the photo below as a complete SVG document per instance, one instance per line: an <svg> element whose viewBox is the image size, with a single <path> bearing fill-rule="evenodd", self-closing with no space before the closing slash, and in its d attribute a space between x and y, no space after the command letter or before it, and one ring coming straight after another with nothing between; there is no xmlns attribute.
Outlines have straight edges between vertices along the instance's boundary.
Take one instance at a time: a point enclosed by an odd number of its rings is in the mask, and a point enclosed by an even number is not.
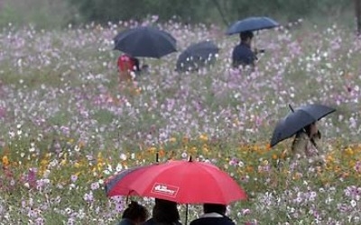
<svg viewBox="0 0 361 225"><path fill-rule="evenodd" d="M179 52L141 58L149 75L126 84L117 81L112 39L136 23L9 25L0 32L0 223L116 224L126 199L106 198L106 178L151 164L156 153L232 175L249 197L229 206L237 224L360 223L361 40L340 25L301 24L256 34L255 46L266 50L253 73L230 69L238 37L162 24ZM215 64L176 72L180 51L206 39L220 48ZM319 121L325 166L291 162L291 140L269 148L288 103L337 109ZM190 205L189 220L199 213Z"/></svg>

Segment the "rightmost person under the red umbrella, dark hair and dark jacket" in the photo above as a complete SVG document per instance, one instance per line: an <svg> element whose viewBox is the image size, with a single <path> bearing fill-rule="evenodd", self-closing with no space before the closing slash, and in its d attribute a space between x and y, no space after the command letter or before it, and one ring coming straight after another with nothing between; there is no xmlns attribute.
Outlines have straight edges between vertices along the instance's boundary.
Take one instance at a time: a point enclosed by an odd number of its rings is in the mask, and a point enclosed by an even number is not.
<svg viewBox="0 0 361 225"><path fill-rule="evenodd" d="M190 221L190 225L236 225L226 216L227 206L224 204L203 204L204 214L199 219Z"/></svg>

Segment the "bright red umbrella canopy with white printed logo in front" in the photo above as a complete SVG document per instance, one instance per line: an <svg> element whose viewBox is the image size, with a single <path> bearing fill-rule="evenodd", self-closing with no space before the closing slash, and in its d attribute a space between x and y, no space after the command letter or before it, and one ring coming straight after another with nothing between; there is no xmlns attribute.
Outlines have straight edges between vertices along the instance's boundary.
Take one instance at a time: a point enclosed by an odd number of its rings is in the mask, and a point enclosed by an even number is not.
<svg viewBox="0 0 361 225"><path fill-rule="evenodd" d="M245 191L226 172L204 162L170 161L145 169L129 187L144 197L179 203L228 204L245 200Z"/></svg>

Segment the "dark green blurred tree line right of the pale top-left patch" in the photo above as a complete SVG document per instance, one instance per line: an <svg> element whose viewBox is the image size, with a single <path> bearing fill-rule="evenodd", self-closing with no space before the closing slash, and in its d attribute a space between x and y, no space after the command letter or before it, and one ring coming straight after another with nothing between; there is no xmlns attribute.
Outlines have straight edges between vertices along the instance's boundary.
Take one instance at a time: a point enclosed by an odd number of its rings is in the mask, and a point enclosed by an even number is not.
<svg viewBox="0 0 361 225"><path fill-rule="evenodd" d="M177 16L183 23L223 23L251 15L282 17L293 21L312 14L342 14L353 8L353 0L68 0L84 22L142 20L158 15L160 21Z"/></svg>

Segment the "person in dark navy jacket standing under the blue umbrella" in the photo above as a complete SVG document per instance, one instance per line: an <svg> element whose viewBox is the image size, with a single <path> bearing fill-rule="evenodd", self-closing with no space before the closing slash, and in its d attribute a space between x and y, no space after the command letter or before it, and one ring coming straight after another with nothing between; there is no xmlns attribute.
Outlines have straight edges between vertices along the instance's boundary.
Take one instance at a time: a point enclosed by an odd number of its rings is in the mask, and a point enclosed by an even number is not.
<svg viewBox="0 0 361 225"><path fill-rule="evenodd" d="M232 67L255 67L257 51L251 49L254 33L252 31L242 31L239 34L239 38L241 42L236 45L232 52Z"/></svg>

